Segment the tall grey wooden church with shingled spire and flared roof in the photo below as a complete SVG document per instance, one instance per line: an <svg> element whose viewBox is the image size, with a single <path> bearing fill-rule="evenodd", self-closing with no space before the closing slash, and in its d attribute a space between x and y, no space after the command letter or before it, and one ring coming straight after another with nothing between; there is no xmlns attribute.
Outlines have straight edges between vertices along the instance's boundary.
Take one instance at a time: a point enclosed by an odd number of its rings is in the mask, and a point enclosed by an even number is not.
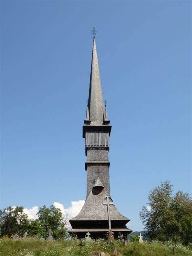
<svg viewBox="0 0 192 256"><path fill-rule="evenodd" d="M109 123L107 107L104 106L102 97L94 36L89 99L83 126L87 156L87 162L85 162L87 198L81 212L69 221L72 226L69 233L75 233L79 238L85 237L87 232L92 238L105 238L109 229L115 237L119 235L119 232L125 236L132 232L126 227L129 219L119 213L110 198L109 137L111 126ZM110 201L108 205L107 200Z"/></svg>

